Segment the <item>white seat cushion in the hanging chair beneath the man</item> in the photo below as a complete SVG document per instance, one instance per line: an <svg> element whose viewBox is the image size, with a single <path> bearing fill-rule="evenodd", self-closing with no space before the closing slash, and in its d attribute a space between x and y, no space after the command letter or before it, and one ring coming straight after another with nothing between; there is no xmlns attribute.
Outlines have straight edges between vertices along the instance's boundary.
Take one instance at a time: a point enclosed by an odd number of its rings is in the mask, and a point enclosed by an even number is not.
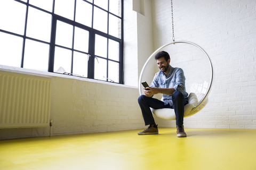
<svg viewBox="0 0 256 170"><path fill-rule="evenodd" d="M188 104L184 107L184 117L189 115L191 109L193 109L198 104L198 99L196 94L191 92L188 95ZM166 119L166 120L175 120L175 113L174 109L172 108L161 108L161 109L154 109L150 108L152 113L157 117Z"/></svg>

